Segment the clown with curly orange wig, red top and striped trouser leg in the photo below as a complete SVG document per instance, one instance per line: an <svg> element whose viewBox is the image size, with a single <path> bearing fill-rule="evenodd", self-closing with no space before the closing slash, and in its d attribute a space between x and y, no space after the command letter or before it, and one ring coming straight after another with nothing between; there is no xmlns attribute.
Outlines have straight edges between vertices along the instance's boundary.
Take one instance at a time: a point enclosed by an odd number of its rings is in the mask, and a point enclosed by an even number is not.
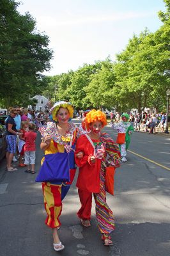
<svg viewBox="0 0 170 256"><path fill-rule="evenodd" d="M98 228L102 234L104 245L112 245L111 232L114 230L114 217L106 203L105 170L107 166L115 164L114 156L120 161L120 151L111 137L101 133L107 125L105 114L100 110L91 110L85 120L88 134L82 134L76 144L75 162L79 166L77 188L81 208L77 212L84 227L91 225L92 193L96 203ZM82 152L80 159L76 156Z"/></svg>

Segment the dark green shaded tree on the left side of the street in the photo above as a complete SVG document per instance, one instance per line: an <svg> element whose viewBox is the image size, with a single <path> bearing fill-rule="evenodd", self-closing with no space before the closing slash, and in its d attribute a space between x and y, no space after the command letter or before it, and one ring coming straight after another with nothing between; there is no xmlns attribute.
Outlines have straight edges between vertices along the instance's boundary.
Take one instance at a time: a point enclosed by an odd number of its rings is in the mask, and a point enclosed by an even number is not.
<svg viewBox="0 0 170 256"><path fill-rule="evenodd" d="M20 15L18 6L14 0L0 3L0 97L6 108L21 103L24 93L42 91L40 73L49 70L52 58L48 36L36 31L33 17Z"/></svg>

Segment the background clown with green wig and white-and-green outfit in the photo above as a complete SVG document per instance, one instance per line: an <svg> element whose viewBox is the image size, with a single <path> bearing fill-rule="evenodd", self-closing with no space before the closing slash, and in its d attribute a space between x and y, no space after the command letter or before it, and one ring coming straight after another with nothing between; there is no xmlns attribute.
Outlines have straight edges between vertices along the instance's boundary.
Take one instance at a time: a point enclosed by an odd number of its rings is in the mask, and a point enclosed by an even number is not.
<svg viewBox="0 0 170 256"><path fill-rule="evenodd" d="M125 134L125 138L122 141L116 141L120 145L120 152L121 152L121 161L127 161L127 149L130 144L130 134L134 132L134 127L129 120L129 115L127 113L123 113L121 115L121 122L118 124L113 124L112 128L118 131L118 134Z"/></svg>

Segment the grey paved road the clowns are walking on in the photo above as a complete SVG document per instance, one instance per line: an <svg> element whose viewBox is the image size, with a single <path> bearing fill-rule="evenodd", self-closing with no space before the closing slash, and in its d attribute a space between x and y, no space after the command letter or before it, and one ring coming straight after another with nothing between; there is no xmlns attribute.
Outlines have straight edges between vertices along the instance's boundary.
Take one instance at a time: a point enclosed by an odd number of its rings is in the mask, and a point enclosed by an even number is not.
<svg viewBox="0 0 170 256"><path fill-rule="evenodd" d="M116 138L116 132L105 131ZM40 143L40 136L37 144ZM170 137L134 132L130 151L170 168ZM42 152L37 147L36 170ZM79 256L169 256L170 172L128 152L128 162L116 170L115 195L107 195L114 212L114 245L103 246L95 221L93 202L92 226L82 228L75 212L79 197L75 181L63 202L61 241L66 248L58 255ZM56 255L50 228L44 225L45 211L40 184L35 176L6 172L0 163L0 248L1 256Z"/></svg>

